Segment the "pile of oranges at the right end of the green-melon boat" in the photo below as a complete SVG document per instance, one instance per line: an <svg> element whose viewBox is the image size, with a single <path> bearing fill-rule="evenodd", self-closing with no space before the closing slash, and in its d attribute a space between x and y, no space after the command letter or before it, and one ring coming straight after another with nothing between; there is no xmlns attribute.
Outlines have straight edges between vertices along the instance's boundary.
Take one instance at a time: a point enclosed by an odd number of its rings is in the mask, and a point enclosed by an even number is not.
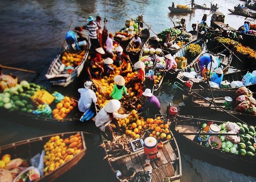
<svg viewBox="0 0 256 182"><path fill-rule="evenodd" d="M76 107L74 100L65 96L63 100L56 104L56 108L52 110L53 118L57 120L64 119L74 107Z"/></svg>

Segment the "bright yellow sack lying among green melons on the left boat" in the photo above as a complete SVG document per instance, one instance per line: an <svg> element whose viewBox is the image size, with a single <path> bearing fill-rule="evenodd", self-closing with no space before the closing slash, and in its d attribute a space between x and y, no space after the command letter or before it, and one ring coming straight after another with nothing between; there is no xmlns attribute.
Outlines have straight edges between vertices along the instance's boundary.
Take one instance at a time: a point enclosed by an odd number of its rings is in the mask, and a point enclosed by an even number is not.
<svg viewBox="0 0 256 182"><path fill-rule="evenodd" d="M31 96L31 100L37 105L44 104L44 103L50 105L53 102L54 97L45 90L44 91L38 90L37 92L35 92L34 95Z"/></svg>

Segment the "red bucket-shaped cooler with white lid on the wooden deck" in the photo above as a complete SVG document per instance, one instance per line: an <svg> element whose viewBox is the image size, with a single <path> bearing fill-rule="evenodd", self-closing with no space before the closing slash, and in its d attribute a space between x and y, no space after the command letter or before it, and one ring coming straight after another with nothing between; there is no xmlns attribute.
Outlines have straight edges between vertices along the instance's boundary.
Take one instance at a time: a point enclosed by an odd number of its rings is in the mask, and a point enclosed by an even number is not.
<svg viewBox="0 0 256 182"><path fill-rule="evenodd" d="M153 159L157 156L157 139L154 137L144 139L144 153L149 159Z"/></svg>

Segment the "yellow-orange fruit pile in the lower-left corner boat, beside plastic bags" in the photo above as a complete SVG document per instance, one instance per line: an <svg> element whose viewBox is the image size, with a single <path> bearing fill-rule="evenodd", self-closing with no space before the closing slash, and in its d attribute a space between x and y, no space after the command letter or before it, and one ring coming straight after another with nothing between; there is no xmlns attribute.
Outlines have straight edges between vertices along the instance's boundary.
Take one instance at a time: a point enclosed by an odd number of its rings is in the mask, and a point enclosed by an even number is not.
<svg viewBox="0 0 256 182"><path fill-rule="evenodd" d="M71 135L69 138L60 138L59 135L51 137L44 145L44 173L54 171L65 162L72 159L83 149L82 137L80 133Z"/></svg>

